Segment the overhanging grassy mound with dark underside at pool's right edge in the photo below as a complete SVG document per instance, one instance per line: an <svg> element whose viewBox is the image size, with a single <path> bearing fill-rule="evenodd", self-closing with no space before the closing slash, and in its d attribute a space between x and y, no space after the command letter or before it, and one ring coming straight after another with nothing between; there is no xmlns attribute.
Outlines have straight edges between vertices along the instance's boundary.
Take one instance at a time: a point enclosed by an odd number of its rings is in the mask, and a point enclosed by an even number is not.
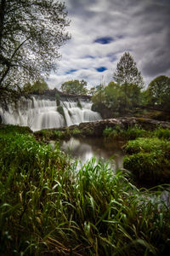
<svg viewBox="0 0 170 256"><path fill-rule="evenodd" d="M137 138L125 147L123 166L132 171L137 180L146 183L170 181L170 143L157 137Z"/></svg>

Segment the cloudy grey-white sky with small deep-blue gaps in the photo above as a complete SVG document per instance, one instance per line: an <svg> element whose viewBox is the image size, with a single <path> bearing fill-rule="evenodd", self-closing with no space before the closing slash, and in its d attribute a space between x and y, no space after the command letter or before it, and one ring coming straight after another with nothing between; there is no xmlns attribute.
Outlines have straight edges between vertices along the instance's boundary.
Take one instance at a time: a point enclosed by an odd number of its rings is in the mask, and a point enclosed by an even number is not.
<svg viewBox="0 0 170 256"><path fill-rule="evenodd" d="M65 0L71 40L60 48L50 88L84 79L88 88L108 84L125 51L133 56L145 86L170 76L170 0Z"/></svg>

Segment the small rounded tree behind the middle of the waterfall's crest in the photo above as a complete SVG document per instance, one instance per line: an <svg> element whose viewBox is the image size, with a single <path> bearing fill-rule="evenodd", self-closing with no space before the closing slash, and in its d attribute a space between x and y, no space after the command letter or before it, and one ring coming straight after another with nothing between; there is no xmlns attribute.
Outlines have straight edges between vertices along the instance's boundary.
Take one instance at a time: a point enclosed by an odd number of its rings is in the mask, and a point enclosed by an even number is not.
<svg viewBox="0 0 170 256"><path fill-rule="evenodd" d="M84 80L71 80L61 84L61 90L67 94L87 95L87 82Z"/></svg>

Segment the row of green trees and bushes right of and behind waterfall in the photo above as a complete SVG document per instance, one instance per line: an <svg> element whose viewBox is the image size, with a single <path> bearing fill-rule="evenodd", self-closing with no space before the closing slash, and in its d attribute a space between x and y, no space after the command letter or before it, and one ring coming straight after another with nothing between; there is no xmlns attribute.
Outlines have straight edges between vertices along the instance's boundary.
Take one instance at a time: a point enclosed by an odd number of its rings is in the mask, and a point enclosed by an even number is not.
<svg viewBox="0 0 170 256"><path fill-rule="evenodd" d="M118 61L109 84L88 90L86 81L71 80L61 84L60 89L68 94L91 95L95 106L114 113L129 113L141 106L170 110L170 78L158 76L144 90L144 79L129 52Z"/></svg>

